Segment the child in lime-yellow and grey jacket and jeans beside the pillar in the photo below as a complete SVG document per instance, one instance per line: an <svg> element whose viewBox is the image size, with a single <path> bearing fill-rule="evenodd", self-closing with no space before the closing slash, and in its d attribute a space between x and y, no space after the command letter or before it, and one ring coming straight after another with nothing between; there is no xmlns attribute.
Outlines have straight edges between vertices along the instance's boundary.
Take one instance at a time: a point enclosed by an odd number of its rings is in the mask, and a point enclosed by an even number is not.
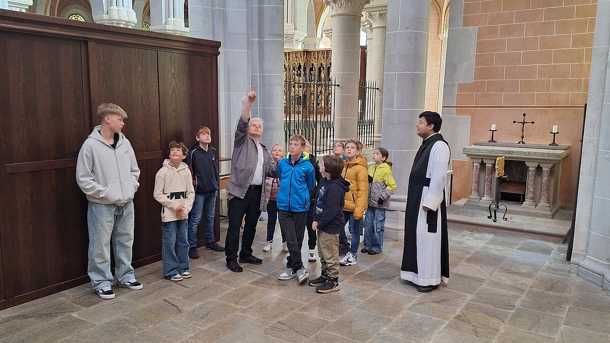
<svg viewBox="0 0 610 343"><path fill-rule="evenodd" d="M386 209L390 207L390 196L396 190L392 175L392 162L387 161L389 153L385 148L375 149L374 165L368 168L368 208L364 220L364 248L361 253L377 255L383 248L383 234L386 230Z"/></svg>

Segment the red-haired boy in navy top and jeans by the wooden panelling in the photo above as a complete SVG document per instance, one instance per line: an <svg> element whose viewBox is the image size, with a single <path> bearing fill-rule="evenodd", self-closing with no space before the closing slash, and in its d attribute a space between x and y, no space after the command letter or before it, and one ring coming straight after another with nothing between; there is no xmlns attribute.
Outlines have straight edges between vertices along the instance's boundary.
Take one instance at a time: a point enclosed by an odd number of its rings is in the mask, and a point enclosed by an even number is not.
<svg viewBox="0 0 610 343"><path fill-rule="evenodd" d="M190 169L195 187L195 203L188 218L188 257L199 258L197 251L197 228L202 215L205 218L206 249L224 251L214 240L214 212L218 195L218 152L210 146L212 136L207 126L195 132L197 143L193 145L184 161Z"/></svg>

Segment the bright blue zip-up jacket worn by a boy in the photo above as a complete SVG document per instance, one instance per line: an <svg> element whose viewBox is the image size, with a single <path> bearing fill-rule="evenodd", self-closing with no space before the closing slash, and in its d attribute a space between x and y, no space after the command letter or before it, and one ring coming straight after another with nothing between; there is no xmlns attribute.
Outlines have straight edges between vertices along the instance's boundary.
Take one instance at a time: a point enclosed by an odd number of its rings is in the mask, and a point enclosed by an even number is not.
<svg viewBox="0 0 610 343"><path fill-rule="evenodd" d="M290 154L278 162L278 209L290 212L309 211L309 192L315 188L314 166L309 162L309 154L303 151L301 157L292 163Z"/></svg>

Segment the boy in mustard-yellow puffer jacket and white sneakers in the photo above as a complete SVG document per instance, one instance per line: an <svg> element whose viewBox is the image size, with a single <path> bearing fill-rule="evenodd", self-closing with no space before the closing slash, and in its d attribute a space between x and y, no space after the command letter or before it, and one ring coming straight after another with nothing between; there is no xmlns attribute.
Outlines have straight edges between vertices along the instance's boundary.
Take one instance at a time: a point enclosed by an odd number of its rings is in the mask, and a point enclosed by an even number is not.
<svg viewBox="0 0 610 343"><path fill-rule="evenodd" d="M345 222L350 223L351 247L347 241L345 230L339 234L339 252L342 248L349 248L345 257L340 259L339 265L354 265L358 261L356 254L358 245L360 244L360 228L361 219L364 211L367 209L367 193L368 193L368 173L367 159L360 156L362 152L362 143L357 140L349 139L345 142L345 156L347 159L343 161L343 178L350 182L350 192L345 193L345 207L343 214Z"/></svg>

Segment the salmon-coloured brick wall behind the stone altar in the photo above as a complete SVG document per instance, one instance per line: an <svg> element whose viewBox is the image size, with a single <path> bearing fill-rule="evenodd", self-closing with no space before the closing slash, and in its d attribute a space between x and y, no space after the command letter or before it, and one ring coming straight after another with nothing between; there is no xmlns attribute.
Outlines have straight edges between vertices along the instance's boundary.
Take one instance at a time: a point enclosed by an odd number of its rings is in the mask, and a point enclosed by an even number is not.
<svg viewBox="0 0 610 343"><path fill-rule="evenodd" d="M564 160L559 201L573 206L578 156L597 0L465 0L463 26L478 27L474 82L458 84L456 115L470 115L471 143L489 139L517 142L521 120L525 141L550 143L559 125L559 144L572 145ZM519 126L519 128L517 128ZM454 164L456 175L472 176L471 162ZM454 188L454 198L468 197L470 184Z"/></svg>

